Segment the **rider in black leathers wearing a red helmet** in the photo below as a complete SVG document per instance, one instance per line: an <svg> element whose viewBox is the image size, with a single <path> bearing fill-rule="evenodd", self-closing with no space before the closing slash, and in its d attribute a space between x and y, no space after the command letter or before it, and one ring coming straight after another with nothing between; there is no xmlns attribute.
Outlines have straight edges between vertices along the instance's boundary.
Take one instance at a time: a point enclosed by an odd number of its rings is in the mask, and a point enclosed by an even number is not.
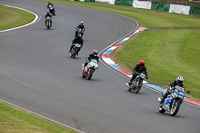
<svg viewBox="0 0 200 133"><path fill-rule="evenodd" d="M145 66L144 60L140 60L139 64L136 64L136 66L133 68L133 76L129 82L129 86L131 85L132 81L139 75L140 73L145 73L146 79L148 79L148 73L147 68Z"/></svg>

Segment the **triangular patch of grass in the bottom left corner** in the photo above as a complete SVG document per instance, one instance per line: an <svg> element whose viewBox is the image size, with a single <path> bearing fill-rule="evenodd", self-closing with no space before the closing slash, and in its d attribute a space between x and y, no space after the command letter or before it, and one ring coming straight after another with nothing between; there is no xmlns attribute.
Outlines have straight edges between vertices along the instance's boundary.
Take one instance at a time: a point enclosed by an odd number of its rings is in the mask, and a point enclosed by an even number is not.
<svg viewBox="0 0 200 133"><path fill-rule="evenodd" d="M0 133L75 133L0 102Z"/></svg>

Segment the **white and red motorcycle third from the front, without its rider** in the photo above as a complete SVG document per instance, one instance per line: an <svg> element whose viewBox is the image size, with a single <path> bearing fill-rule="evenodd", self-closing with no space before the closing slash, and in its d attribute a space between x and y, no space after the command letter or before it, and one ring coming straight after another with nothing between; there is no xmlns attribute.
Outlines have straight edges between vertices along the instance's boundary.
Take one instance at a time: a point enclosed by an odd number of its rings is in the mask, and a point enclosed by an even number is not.
<svg viewBox="0 0 200 133"><path fill-rule="evenodd" d="M96 69L98 69L99 65L96 59L92 59L85 67L84 63L82 65L82 77L90 80L92 75Z"/></svg>

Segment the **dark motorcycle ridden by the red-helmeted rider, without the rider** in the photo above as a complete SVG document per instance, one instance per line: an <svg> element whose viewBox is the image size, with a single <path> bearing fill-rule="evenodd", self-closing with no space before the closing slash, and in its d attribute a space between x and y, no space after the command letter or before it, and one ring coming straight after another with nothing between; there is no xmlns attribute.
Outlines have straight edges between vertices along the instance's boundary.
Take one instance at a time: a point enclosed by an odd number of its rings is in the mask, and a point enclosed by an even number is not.
<svg viewBox="0 0 200 133"><path fill-rule="evenodd" d="M129 88L128 91L133 91L134 93L138 93L142 87L143 80L145 78L145 74L141 73L136 76L133 82L129 85L126 83L126 86Z"/></svg>

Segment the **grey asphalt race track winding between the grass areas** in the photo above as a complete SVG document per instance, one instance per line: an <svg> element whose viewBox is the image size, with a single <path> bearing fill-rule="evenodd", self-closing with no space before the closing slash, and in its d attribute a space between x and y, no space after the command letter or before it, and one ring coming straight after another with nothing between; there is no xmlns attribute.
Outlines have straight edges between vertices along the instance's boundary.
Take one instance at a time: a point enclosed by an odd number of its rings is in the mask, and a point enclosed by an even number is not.
<svg viewBox="0 0 200 133"><path fill-rule="evenodd" d="M127 91L127 78L100 63L92 80L81 65L137 26L125 17L55 4L53 27L46 30L46 2L1 0L41 15L29 27L0 33L0 99L87 133L199 133L200 109L182 104L175 117L157 110L159 93L142 87ZM79 57L68 54L78 22L85 21ZM134 57L133 57L134 58ZM147 64L148 67L148 64ZM149 76L151 78L151 76Z"/></svg>

